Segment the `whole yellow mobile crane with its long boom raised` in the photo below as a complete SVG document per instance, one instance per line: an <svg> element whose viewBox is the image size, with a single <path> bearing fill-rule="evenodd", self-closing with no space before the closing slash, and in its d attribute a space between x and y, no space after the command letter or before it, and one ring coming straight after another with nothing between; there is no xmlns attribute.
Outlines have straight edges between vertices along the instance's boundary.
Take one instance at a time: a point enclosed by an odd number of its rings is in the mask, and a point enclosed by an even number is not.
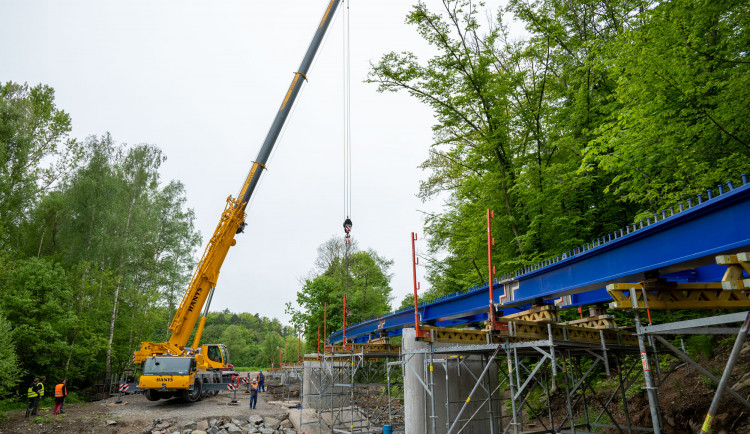
<svg viewBox="0 0 750 434"><path fill-rule="evenodd" d="M206 314L224 258L229 248L236 244L235 235L242 232L245 227L245 208L258 185L263 169L266 168L266 161L297 98L302 82L307 80L307 71L333 19L339 1L329 1L302 64L294 74L292 84L284 96L258 157L242 185L239 199L233 199L231 196L227 198L221 220L203 252L190 286L169 326L169 341L142 342L141 348L135 352L133 363L142 367L138 389L144 390L149 400L181 396L187 401L197 401L209 392L223 388L223 383L234 374L230 370L229 354L225 345L200 345ZM200 311L204 305L205 313L201 317ZM192 346L188 346L190 335L199 318L200 323Z"/></svg>

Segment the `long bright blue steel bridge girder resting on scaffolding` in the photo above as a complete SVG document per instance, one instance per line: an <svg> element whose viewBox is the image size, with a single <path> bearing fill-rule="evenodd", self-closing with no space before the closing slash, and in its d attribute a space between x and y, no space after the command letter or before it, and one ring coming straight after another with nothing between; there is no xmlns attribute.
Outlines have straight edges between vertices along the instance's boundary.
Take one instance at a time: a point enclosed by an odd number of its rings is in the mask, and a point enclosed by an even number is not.
<svg viewBox="0 0 750 434"><path fill-rule="evenodd" d="M646 273L683 282L720 280L723 268L715 265L715 256L750 246L750 184L696 202L671 216L655 215L643 228L631 225L630 230L602 238L595 247L577 249L564 259L545 261L544 266L496 281L495 303L500 304L506 290L510 292L498 309L508 315L527 309L538 299L556 300L563 308L609 302L612 299L604 289L607 284L642 281ZM445 326L484 321L488 293L485 284L427 302L419 306L420 322ZM563 296L569 297L561 299ZM414 309L406 308L348 326L346 335L366 342L381 330L396 335L413 324ZM330 335L332 343L341 339L341 331Z"/></svg>

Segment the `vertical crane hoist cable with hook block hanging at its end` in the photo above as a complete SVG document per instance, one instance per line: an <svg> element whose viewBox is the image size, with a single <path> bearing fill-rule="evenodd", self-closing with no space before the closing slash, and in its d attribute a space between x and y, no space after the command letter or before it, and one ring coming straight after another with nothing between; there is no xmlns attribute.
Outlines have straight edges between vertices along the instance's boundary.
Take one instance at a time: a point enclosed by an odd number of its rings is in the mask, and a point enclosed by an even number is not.
<svg viewBox="0 0 750 434"><path fill-rule="evenodd" d="M343 21L343 75L344 86L344 239L351 243L352 231L352 128L351 128L351 32L349 26L349 2L346 0Z"/></svg>

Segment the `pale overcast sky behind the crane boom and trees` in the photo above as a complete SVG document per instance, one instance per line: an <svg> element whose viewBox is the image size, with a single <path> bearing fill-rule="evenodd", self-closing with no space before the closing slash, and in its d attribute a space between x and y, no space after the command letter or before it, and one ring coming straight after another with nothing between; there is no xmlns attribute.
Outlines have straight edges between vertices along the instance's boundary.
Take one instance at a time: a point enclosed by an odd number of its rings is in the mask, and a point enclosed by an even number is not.
<svg viewBox="0 0 750 434"><path fill-rule="evenodd" d="M350 5L352 234L360 248L394 260L396 304L412 291L410 233L424 249L421 211L440 207L416 197L433 117L408 95L379 94L363 80L386 52L431 53L404 23L414 2ZM237 195L327 3L0 0L0 81L52 86L73 137L110 132L117 142L161 148L162 180L185 184L205 243L227 196ZM317 247L343 237L343 11L248 206L212 311L288 321L284 304L295 300Z"/></svg>

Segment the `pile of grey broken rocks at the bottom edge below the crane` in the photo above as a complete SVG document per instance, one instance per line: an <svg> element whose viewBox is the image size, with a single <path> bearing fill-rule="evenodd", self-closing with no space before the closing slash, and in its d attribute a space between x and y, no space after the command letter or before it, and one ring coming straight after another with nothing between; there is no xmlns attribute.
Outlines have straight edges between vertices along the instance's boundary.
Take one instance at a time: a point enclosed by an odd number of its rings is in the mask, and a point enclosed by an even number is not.
<svg viewBox="0 0 750 434"><path fill-rule="evenodd" d="M176 423L156 419L143 434L297 434L288 418L252 415L247 419L212 418Z"/></svg>

